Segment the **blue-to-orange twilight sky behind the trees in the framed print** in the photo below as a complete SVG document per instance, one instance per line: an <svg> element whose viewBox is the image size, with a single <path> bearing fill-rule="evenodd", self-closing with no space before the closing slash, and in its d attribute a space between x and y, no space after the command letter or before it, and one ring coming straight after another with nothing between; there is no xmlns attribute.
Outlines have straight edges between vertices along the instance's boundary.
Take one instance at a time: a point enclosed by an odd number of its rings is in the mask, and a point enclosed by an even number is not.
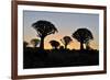
<svg viewBox="0 0 110 80"><path fill-rule="evenodd" d="M43 12L43 11L23 11L23 38L28 43L32 38L37 37L36 31L32 27L32 24L38 20L45 20L52 22L57 27L58 33L46 36L44 47L52 48L50 41L55 39L61 43L61 38L64 36L70 36L80 27L86 27L91 31L94 41L90 42L90 46L95 49L99 48L99 15L87 13L67 13L67 12ZM73 38L73 37L72 37ZM63 45L61 43L61 45ZM30 44L31 46L31 44ZM80 44L75 38L68 45L70 49L79 49Z"/></svg>

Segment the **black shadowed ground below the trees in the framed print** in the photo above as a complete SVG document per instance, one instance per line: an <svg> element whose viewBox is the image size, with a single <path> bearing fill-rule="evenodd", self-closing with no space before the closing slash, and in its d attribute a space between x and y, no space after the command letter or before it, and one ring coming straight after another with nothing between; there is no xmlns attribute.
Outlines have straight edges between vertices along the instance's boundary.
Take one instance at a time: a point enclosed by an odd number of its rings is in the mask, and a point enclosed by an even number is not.
<svg viewBox="0 0 110 80"><path fill-rule="evenodd" d="M98 50L24 48L23 68L52 68L99 65Z"/></svg>

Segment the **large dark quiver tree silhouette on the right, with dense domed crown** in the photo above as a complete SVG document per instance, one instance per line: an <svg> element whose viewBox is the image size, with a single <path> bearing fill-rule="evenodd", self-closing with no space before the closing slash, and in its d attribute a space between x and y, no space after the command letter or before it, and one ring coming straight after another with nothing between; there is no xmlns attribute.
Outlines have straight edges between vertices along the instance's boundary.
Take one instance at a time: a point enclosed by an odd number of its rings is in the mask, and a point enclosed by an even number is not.
<svg viewBox="0 0 110 80"><path fill-rule="evenodd" d="M78 28L72 36L80 43L80 49L84 49L85 43L94 39L92 33L88 28Z"/></svg>

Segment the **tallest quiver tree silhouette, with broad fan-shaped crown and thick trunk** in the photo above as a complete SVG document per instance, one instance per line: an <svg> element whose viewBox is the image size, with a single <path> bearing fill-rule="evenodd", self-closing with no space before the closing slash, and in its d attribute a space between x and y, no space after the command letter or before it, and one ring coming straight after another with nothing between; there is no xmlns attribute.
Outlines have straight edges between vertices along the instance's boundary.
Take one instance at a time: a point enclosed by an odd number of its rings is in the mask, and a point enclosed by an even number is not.
<svg viewBox="0 0 110 80"><path fill-rule="evenodd" d="M32 24L32 26L36 30L37 35L41 37L41 49L44 49L44 38L47 35L55 34L55 32L58 32L54 24L44 20L36 21Z"/></svg>

